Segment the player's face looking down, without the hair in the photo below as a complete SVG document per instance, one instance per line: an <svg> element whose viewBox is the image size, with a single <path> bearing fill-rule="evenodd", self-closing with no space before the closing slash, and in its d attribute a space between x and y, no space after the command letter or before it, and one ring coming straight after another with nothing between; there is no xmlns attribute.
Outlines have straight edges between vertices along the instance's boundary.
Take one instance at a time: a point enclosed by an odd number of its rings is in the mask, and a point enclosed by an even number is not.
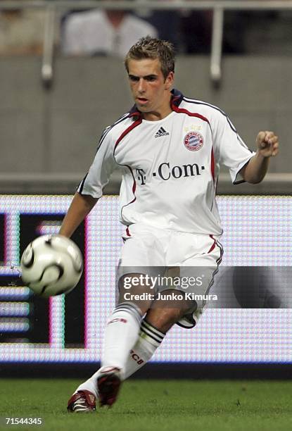
<svg viewBox="0 0 292 431"><path fill-rule="evenodd" d="M137 108L146 120L160 120L172 110L170 108L170 89L174 74L163 76L158 58L130 60L129 85Z"/></svg>

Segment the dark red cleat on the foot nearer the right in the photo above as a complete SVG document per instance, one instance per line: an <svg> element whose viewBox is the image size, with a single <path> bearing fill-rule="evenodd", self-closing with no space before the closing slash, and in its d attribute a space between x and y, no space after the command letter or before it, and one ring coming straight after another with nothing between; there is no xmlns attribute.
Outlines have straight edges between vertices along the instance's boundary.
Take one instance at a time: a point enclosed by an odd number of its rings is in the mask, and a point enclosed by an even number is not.
<svg viewBox="0 0 292 431"><path fill-rule="evenodd" d="M121 384L119 368L105 368L97 379L100 406L112 406L118 396Z"/></svg>

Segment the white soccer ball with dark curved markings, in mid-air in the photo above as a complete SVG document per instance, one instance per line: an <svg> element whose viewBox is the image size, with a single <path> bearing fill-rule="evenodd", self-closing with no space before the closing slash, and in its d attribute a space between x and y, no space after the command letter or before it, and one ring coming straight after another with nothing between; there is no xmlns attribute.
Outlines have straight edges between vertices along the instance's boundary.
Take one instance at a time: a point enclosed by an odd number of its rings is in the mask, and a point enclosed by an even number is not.
<svg viewBox="0 0 292 431"><path fill-rule="evenodd" d="M47 298L67 294L79 282L83 270L80 249L62 235L42 235L23 252L21 276L35 294Z"/></svg>

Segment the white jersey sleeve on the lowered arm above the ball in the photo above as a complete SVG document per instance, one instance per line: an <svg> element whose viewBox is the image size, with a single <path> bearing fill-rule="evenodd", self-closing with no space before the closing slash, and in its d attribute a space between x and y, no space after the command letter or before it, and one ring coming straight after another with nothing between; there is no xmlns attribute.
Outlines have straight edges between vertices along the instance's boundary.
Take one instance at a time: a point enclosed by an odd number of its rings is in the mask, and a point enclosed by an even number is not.
<svg viewBox="0 0 292 431"><path fill-rule="evenodd" d="M88 194L94 198L100 198L103 194L103 187L108 184L110 175L117 167L113 157L114 139L111 134L105 130L99 142L94 161L91 164L87 175L85 175L77 192Z"/></svg>

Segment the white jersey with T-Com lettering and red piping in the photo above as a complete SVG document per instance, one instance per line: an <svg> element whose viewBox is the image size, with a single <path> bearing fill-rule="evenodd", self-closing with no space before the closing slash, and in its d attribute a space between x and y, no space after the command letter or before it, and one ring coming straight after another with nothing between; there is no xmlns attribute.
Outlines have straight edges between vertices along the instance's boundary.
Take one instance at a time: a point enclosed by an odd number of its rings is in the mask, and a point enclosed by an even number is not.
<svg viewBox="0 0 292 431"><path fill-rule="evenodd" d="M123 224L221 235L215 201L220 164L236 184L242 182L239 170L255 153L219 108L172 93L172 112L162 120L144 120L134 106L106 128L77 191L101 197L119 167Z"/></svg>

